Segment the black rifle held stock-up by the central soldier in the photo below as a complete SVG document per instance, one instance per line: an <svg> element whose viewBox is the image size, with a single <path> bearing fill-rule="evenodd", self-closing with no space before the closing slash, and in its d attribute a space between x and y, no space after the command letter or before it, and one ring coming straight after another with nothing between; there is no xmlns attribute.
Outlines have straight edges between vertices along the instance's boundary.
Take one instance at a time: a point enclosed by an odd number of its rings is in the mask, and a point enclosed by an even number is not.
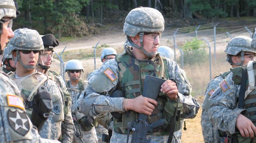
<svg viewBox="0 0 256 143"><path fill-rule="evenodd" d="M156 100L160 93L161 85L164 79L146 75L142 96ZM147 123L148 115L140 113L138 119L128 123L127 140L128 143L130 131L132 131L131 143L153 143L151 137L147 139L147 135L152 135L153 129L164 125L164 119L155 121L152 124Z"/></svg>

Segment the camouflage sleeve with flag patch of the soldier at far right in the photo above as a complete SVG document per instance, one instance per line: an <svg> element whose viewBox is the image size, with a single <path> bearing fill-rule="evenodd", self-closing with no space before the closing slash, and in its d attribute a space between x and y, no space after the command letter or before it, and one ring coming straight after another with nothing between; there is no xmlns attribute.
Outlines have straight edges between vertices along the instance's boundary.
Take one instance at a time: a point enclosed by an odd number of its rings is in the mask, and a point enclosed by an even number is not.
<svg viewBox="0 0 256 143"><path fill-rule="evenodd" d="M232 77L233 74L230 73L223 80L227 86L223 89L219 85L209 99L211 101L209 108L211 122L218 129L230 134L235 133L237 117L244 111L244 109L236 108L236 98L239 96L240 85L235 85Z"/></svg>

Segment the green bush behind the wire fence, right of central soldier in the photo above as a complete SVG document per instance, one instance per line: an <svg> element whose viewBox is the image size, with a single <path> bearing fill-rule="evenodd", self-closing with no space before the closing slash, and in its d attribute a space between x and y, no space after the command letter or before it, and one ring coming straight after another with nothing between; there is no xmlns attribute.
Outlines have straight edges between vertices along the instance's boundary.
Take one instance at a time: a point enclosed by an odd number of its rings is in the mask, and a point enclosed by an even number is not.
<svg viewBox="0 0 256 143"><path fill-rule="evenodd" d="M206 44L204 41L197 38L192 39L192 41L187 41L182 50L184 65L194 65L208 60Z"/></svg>

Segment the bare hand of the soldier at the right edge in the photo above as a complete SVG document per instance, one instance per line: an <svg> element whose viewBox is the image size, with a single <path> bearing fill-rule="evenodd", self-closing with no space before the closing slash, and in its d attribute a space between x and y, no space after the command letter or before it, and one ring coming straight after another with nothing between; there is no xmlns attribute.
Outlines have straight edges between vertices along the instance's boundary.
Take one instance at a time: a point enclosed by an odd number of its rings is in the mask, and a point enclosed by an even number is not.
<svg viewBox="0 0 256 143"><path fill-rule="evenodd" d="M256 127L254 126L253 122L242 114L238 115L237 123L235 124L243 137L250 136L251 138L253 138L254 134L256 134Z"/></svg>

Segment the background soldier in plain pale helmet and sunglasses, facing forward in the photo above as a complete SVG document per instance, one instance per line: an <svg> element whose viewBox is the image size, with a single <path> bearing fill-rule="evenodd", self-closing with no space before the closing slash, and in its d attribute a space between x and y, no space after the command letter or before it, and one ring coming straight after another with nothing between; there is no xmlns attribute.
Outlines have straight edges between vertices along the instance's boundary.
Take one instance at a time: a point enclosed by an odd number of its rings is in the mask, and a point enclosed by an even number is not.
<svg viewBox="0 0 256 143"><path fill-rule="evenodd" d="M75 143L81 143L81 139L85 143L97 143L97 135L95 126L97 126L96 120L90 116L86 116L83 113L77 112L76 100L83 95L84 89L87 87L87 81L80 78L81 72L83 72L83 65L79 60L69 60L66 64L65 72L69 76L70 80L66 81L67 90L71 94L72 105L71 111L76 127L76 135L74 136Z"/></svg>

